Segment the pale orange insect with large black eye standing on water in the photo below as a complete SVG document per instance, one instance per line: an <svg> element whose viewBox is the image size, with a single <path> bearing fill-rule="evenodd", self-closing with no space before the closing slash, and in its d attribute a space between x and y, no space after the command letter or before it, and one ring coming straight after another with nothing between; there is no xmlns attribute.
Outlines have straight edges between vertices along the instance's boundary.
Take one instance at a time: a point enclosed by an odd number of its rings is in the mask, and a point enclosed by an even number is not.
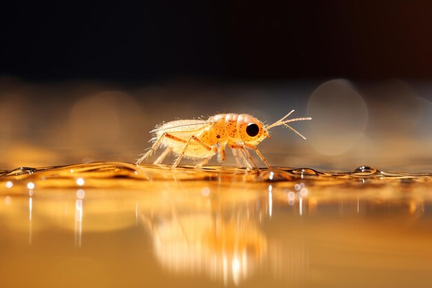
<svg viewBox="0 0 432 288"><path fill-rule="evenodd" d="M177 154L172 169L177 167L180 161L186 157L201 160L197 166L205 165L211 157L217 154L217 160L224 162L226 158L225 148L231 148L237 166L252 169L252 165L258 166L248 152L248 149L255 151L267 168L271 168L266 158L258 150L257 145L266 138L271 138L268 131L276 126L285 126L291 131L306 140L302 134L297 132L288 123L311 120L311 117L286 119L294 112L286 114L281 119L270 125L264 125L257 118L247 114L217 114L208 119L175 120L157 126L150 133L155 137L150 140L153 146L137 161L137 165L150 157L159 147L164 147L164 152L157 157L154 164L160 164L166 155L173 152Z"/></svg>

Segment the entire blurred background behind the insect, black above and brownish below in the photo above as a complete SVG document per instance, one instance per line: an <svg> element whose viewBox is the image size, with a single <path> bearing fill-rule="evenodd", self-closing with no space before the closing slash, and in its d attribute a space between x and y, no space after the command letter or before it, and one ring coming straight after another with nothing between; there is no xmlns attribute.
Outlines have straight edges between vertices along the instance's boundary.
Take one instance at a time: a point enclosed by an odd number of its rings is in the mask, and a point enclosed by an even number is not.
<svg viewBox="0 0 432 288"><path fill-rule="evenodd" d="M0 169L135 162L162 122L295 109L308 140L275 128L273 166L431 171L432 2L208 2L2 3Z"/></svg>

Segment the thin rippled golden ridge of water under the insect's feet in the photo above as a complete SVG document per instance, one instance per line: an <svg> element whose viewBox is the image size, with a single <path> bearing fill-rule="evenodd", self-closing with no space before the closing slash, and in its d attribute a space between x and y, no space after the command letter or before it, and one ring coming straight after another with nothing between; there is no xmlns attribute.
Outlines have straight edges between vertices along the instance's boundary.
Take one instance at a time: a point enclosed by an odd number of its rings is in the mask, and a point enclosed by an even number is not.
<svg viewBox="0 0 432 288"><path fill-rule="evenodd" d="M179 166L170 169L165 165L143 164L136 166L124 162L93 162L68 166L43 168L20 167L2 171L0 187L11 182L14 186L26 186L28 181L42 187L110 187L134 186L148 181L219 181L219 182L289 182L303 180L355 180L362 179L412 179L431 181L432 174L406 174L378 171L371 166L360 166L352 172L328 173L310 168L288 169L275 167L261 171L247 171L227 166L206 166L196 169L193 166ZM77 182L77 179L85 180ZM104 180L115 180L107 182ZM4 182L4 183L3 183ZM105 184L104 184L105 183ZM5 184L5 185L3 185ZM6 187L6 186L5 186Z"/></svg>

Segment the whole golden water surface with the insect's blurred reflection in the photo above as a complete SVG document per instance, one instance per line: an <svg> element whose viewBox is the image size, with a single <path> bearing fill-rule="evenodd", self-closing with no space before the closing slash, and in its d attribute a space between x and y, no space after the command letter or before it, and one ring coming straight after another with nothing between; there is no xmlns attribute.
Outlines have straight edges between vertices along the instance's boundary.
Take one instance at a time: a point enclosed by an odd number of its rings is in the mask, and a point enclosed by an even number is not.
<svg viewBox="0 0 432 288"><path fill-rule="evenodd" d="M0 171L0 287L431 287L432 175Z"/></svg>

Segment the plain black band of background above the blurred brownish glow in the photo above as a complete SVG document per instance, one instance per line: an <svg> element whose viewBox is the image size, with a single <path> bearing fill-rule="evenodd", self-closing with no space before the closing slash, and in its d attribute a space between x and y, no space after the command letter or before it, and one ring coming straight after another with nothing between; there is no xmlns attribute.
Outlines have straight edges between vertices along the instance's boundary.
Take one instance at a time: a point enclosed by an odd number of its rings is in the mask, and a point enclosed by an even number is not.
<svg viewBox="0 0 432 288"><path fill-rule="evenodd" d="M11 2L0 75L27 81L432 77L429 1Z"/></svg>

